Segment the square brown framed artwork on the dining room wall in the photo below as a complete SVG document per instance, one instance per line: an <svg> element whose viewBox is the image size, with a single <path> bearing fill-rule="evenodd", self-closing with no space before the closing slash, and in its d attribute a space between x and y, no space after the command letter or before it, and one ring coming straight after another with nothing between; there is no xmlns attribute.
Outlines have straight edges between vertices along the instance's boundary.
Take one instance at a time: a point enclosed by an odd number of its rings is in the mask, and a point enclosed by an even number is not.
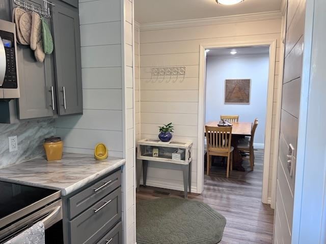
<svg viewBox="0 0 326 244"><path fill-rule="evenodd" d="M250 104L250 79L225 80L225 104Z"/></svg>

